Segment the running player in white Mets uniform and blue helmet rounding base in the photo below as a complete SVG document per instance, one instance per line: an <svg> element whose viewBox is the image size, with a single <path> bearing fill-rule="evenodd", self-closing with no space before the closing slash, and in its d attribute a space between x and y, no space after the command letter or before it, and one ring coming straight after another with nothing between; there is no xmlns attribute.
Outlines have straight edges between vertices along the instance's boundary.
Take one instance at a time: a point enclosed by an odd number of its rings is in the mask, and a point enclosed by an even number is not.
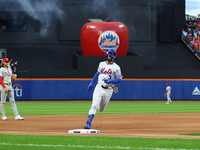
<svg viewBox="0 0 200 150"><path fill-rule="evenodd" d="M91 123L97 109L99 109L99 111L105 110L113 94L113 87L122 80L121 69L113 61L114 58L116 58L116 54L117 52L114 49L110 49L107 52L106 61L99 63L97 73L94 75L87 88L87 91L89 92L92 89L94 82L98 79L98 83L93 92L92 106L89 110L84 129L91 128Z"/></svg>

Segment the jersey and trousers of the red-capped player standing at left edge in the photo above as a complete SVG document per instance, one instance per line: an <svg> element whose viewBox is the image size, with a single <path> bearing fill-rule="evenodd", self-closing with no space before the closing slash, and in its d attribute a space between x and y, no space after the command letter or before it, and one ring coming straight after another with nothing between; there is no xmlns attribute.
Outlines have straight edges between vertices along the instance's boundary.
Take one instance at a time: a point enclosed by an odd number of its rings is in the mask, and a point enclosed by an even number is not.
<svg viewBox="0 0 200 150"><path fill-rule="evenodd" d="M11 82L12 70L11 70L10 66L8 66L8 70L5 69L4 67L0 68L0 77L3 77L3 83L6 86L6 88L8 89L8 93L6 93L4 88L2 87L2 85L0 86L0 88L1 88L1 113L2 113L2 116L5 116L5 106L3 106L2 104L6 103L6 97L7 96L8 96L10 103L11 103L12 110L13 110L15 116L17 116L19 114L18 114L16 103L15 103L14 90L12 88L12 82Z"/></svg>

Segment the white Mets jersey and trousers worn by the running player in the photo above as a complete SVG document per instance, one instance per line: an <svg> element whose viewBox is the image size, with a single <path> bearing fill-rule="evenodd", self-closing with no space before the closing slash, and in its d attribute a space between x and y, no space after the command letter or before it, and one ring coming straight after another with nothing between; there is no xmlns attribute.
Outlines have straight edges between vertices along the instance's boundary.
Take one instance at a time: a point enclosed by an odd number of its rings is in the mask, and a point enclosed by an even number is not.
<svg viewBox="0 0 200 150"><path fill-rule="evenodd" d="M94 89L89 115L96 114L97 108L100 111L105 110L110 101L115 83L106 84L104 79L122 79L121 69L115 62L112 64L107 64L106 61L100 62L97 72L99 73L98 83Z"/></svg>

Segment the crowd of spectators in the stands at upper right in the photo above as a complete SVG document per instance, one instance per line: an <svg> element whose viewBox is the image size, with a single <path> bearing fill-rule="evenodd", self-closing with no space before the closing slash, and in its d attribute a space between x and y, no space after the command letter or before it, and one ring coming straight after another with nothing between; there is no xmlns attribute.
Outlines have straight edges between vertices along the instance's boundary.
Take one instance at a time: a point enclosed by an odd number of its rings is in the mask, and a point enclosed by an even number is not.
<svg viewBox="0 0 200 150"><path fill-rule="evenodd" d="M200 57L200 21L186 23L182 30L182 40L196 56Z"/></svg>

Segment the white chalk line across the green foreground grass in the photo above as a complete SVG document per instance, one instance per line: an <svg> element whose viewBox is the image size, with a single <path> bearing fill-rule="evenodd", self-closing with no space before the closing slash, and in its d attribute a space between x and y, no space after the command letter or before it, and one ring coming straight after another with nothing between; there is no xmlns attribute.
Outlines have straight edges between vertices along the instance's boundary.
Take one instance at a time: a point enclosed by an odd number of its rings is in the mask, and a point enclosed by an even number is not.
<svg viewBox="0 0 200 150"><path fill-rule="evenodd" d="M141 150L199 150L184 148L154 148L154 147L121 147L121 146L87 146L87 145L49 145L49 144L20 144L20 143L0 143L3 146L29 146L29 147L62 147L62 148L92 148L92 149L141 149Z"/></svg>

